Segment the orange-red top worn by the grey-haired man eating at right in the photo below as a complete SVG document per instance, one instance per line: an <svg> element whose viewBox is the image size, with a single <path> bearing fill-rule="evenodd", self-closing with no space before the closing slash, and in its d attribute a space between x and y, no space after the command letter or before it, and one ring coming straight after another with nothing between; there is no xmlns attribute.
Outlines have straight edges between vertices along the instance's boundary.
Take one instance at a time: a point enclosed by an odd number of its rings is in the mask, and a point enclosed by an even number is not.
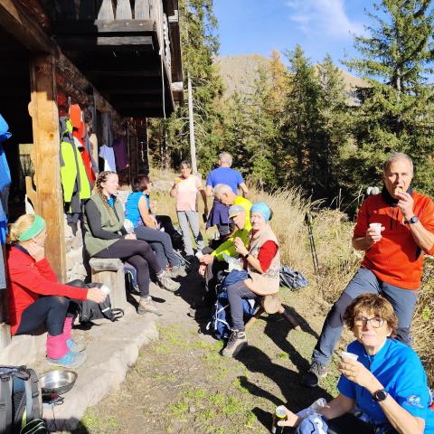
<svg viewBox="0 0 434 434"><path fill-rule="evenodd" d="M434 203L423 194L412 192L413 212L423 227L434 233ZM419 289L423 251L414 241L401 209L387 203L382 193L368 197L357 215L354 238L366 236L369 223L382 223L382 240L366 250L362 262L382 281L404 289ZM428 252L434 253L434 246Z"/></svg>

